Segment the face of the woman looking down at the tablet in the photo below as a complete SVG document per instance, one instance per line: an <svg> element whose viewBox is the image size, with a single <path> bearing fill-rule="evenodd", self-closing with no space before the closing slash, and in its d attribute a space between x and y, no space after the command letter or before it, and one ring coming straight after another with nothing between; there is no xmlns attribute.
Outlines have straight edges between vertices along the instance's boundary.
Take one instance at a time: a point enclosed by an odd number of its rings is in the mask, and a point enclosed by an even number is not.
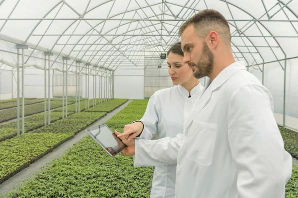
<svg viewBox="0 0 298 198"><path fill-rule="evenodd" d="M167 59L169 75L174 85L181 85L194 78L194 72L187 63L183 63L183 56L170 52Z"/></svg>

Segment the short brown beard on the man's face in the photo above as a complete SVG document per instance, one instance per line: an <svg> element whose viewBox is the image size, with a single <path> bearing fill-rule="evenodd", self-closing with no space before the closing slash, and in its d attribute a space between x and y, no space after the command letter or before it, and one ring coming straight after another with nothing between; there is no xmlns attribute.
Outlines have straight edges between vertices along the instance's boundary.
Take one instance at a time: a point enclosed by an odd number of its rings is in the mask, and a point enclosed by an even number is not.
<svg viewBox="0 0 298 198"><path fill-rule="evenodd" d="M213 69L213 59L214 55L212 51L208 48L206 42L204 42L202 54L200 55L199 61L197 64L194 62L189 62L189 66L196 66L197 70L194 71L195 78L203 78L208 76Z"/></svg>

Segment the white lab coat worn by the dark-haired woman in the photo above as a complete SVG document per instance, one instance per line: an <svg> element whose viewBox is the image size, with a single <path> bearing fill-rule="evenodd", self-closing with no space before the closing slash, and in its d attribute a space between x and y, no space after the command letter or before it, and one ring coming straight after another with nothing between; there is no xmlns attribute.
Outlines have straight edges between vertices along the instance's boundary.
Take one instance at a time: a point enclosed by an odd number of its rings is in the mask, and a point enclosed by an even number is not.
<svg viewBox="0 0 298 198"><path fill-rule="evenodd" d="M155 92L150 97L146 112L141 119L145 127L140 138L151 140L156 131L156 139L176 137L177 132L183 131L184 121L202 90L203 87L199 83L191 90L191 98L188 98L188 91L181 85ZM152 154L158 155L158 151ZM156 166L150 198L174 198L175 177L176 162Z"/></svg>

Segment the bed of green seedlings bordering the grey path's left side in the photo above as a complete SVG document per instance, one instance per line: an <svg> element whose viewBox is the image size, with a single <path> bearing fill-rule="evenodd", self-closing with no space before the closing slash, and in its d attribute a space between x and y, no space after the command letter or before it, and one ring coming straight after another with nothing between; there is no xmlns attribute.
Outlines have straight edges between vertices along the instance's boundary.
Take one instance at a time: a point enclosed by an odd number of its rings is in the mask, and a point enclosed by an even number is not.
<svg viewBox="0 0 298 198"><path fill-rule="evenodd" d="M115 100L114 103L110 102L109 104L114 109L119 106L119 100ZM125 101L127 99L122 99L123 103ZM75 113L66 119L58 120L30 133L0 142L0 183L51 152L53 148L74 137L76 133L104 115L106 115L106 112ZM47 136L47 141L44 141L44 134L52 134L52 136L49 135L52 138Z"/></svg>

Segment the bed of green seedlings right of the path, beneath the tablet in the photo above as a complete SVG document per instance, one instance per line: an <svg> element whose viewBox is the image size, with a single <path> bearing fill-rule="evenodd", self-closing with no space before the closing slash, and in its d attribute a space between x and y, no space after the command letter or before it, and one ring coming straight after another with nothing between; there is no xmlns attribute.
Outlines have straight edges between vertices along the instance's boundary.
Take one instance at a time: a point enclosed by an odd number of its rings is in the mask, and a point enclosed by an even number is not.
<svg viewBox="0 0 298 198"><path fill-rule="evenodd" d="M143 116L147 102L132 101L106 124L122 132L124 124ZM87 136L8 197L149 198L152 174L152 167L134 168L132 157L110 157Z"/></svg>

